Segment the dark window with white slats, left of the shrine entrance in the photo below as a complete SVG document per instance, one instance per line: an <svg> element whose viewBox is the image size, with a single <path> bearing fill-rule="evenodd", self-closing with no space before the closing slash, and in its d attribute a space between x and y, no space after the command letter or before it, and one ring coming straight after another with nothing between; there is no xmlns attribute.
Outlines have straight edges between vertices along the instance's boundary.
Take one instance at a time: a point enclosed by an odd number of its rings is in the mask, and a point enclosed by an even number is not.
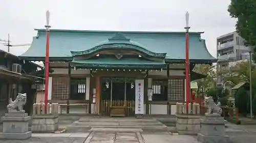
<svg viewBox="0 0 256 143"><path fill-rule="evenodd" d="M71 100L84 100L86 98L86 79L71 79Z"/></svg>

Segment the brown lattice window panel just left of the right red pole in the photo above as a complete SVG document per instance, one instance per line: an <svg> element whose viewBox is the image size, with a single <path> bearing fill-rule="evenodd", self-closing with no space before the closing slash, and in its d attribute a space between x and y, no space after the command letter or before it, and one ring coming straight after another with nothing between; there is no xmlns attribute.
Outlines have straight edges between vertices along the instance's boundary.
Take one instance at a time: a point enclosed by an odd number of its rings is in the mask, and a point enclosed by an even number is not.
<svg viewBox="0 0 256 143"><path fill-rule="evenodd" d="M184 79L170 79L169 100L182 101L184 95Z"/></svg>

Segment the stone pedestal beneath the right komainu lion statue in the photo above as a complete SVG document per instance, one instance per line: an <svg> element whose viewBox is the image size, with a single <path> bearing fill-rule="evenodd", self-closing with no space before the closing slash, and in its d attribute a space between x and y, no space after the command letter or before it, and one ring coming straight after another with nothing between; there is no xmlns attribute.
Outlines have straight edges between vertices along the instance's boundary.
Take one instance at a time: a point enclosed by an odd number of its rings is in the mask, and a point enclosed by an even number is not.
<svg viewBox="0 0 256 143"><path fill-rule="evenodd" d="M225 135L225 120L219 114L206 115L200 119L201 130L197 140L203 143L227 143L229 137Z"/></svg>

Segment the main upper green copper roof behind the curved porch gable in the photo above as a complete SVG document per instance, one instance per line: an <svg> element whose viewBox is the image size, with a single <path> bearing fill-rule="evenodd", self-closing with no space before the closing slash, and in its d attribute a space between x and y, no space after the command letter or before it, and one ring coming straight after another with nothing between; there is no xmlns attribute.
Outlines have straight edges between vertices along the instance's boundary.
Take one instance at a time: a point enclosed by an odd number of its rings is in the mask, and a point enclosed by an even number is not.
<svg viewBox="0 0 256 143"><path fill-rule="evenodd" d="M19 57L31 61L44 61L46 48L46 31L36 30L30 48ZM126 37L123 42L109 41L117 33ZM189 59L195 63L216 62L208 52L205 40L201 33L189 33ZM130 41L127 41L129 39ZM114 32L114 31L72 31L50 30L50 61L72 61L71 51L90 51L105 44L129 44L139 47L145 53L163 55L165 62L184 62L185 60L185 33L184 32Z"/></svg>

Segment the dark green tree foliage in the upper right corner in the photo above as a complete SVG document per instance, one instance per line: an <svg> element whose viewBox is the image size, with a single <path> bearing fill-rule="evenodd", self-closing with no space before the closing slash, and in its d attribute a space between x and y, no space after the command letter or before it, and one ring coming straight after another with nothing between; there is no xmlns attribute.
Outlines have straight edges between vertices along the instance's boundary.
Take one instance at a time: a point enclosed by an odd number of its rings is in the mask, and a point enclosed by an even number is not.
<svg viewBox="0 0 256 143"><path fill-rule="evenodd" d="M256 0L231 0L228 12L232 18L237 18L238 34L252 47L256 44ZM256 53L256 48L253 48ZM256 55L256 54L253 54ZM256 56L253 56L256 60Z"/></svg>

